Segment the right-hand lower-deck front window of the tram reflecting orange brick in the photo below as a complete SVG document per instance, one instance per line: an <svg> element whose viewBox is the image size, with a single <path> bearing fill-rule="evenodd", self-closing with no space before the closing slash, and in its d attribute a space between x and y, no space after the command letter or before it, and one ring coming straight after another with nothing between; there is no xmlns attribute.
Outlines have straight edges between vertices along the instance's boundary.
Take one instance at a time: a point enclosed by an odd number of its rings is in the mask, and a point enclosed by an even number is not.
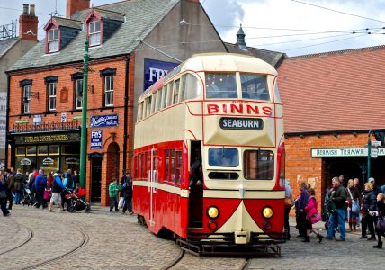
<svg viewBox="0 0 385 270"><path fill-rule="evenodd" d="M244 176L248 180L272 180L274 153L269 150L246 150L244 153Z"/></svg>

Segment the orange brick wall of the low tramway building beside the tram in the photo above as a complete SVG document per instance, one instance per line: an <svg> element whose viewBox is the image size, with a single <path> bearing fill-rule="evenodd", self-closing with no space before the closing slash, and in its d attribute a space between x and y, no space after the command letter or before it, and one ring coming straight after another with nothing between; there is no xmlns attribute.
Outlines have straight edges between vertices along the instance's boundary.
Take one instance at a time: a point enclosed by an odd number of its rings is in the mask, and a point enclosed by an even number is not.
<svg viewBox="0 0 385 270"><path fill-rule="evenodd" d="M311 148L362 148L367 143L367 134L338 134L318 136L300 136L285 139L286 148L286 178L289 179L294 198L300 190L301 181L306 183L316 180L318 211L321 210L325 189L330 185L331 179L324 179L325 166L322 157L311 157Z"/></svg>

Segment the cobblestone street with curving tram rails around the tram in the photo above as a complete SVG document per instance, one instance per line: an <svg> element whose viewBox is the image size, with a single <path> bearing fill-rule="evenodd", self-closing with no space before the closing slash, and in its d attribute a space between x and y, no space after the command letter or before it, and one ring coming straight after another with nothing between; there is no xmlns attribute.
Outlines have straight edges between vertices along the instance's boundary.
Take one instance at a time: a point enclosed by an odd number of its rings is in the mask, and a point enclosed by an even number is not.
<svg viewBox="0 0 385 270"><path fill-rule="evenodd" d="M136 216L93 212L42 211L15 205L0 218L1 269L164 269L180 255L171 240L158 238L137 223ZM319 223L321 226L322 224ZM325 234L325 230L321 231ZM346 242L317 238L282 244L281 257L253 258L247 269L370 269L383 263L384 249L348 233ZM172 269L241 269L243 258L194 257L186 254Z"/></svg>

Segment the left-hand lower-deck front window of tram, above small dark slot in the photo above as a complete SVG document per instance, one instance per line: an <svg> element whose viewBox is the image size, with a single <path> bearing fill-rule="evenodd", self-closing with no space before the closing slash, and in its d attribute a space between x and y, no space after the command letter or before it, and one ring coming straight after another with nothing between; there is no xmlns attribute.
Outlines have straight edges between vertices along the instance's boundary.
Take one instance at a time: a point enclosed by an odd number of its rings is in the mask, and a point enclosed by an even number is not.
<svg viewBox="0 0 385 270"><path fill-rule="evenodd" d="M210 166L236 167L239 165L238 150L236 148L210 148Z"/></svg>

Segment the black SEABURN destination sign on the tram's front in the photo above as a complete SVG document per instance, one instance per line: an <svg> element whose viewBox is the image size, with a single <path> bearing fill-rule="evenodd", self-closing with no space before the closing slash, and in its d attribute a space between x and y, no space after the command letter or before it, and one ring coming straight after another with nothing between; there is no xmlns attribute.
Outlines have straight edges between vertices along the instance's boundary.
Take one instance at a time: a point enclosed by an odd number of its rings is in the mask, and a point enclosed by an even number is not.
<svg viewBox="0 0 385 270"><path fill-rule="evenodd" d="M263 130L264 121L260 118L222 117L219 126L222 130Z"/></svg>

